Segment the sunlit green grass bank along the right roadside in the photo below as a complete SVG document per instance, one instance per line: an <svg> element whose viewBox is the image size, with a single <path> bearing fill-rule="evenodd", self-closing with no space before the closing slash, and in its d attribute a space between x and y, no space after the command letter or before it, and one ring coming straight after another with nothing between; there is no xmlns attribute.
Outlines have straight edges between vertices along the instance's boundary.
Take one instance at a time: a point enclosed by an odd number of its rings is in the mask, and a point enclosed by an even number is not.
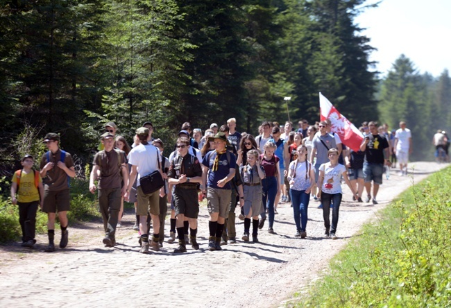
<svg viewBox="0 0 451 308"><path fill-rule="evenodd" d="M364 225L296 307L451 307L451 169Z"/></svg>

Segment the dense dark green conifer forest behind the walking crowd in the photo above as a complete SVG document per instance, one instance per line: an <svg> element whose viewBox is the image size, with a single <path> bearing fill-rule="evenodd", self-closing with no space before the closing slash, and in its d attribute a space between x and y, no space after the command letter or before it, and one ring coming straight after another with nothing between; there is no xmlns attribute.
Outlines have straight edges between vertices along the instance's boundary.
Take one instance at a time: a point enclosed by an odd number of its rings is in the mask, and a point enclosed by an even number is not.
<svg viewBox="0 0 451 308"><path fill-rule="evenodd" d="M85 166L104 124L131 141L152 121L173 144L183 122L319 119L318 92L356 126L407 121L412 160L450 129L451 81L400 55L380 78L354 19L365 0L0 0L1 173L40 155L46 132ZM291 96L291 101L284 101ZM286 105L286 103L288 105ZM296 124L295 124L296 127ZM171 146L167 146L171 150ZM79 173L83 173L83 167Z"/></svg>

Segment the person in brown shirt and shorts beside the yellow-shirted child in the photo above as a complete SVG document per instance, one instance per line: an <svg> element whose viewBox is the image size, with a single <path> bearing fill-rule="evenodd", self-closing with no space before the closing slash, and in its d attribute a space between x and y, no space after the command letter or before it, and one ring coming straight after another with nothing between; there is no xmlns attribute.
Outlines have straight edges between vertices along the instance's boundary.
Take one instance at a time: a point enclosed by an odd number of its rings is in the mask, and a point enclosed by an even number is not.
<svg viewBox="0 0 451 308"><path fill-rule="evenodd" d="M44 137L44 144L49 151L44 153L40 162L40 175L44 182L44 203L42 212L47 213L47 229L49 246L44 251L55 251L55 219L61 226L60 248L66 248L69 233L67 232L67 211L70 210L69 178L75 177L74 161L69 153L60 149L60 136L49 132Z"/></svg>

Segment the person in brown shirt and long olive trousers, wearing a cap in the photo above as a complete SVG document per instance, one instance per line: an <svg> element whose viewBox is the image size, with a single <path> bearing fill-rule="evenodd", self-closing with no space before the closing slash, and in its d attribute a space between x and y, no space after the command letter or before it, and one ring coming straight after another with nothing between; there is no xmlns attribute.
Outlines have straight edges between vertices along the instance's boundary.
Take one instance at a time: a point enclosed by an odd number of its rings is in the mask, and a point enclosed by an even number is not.
<svg viewBox="0 0 451 308"><path fill-rule="evenodd" d="M94 155L92 172L90 176L90 191L92 194L99 188L99 210L103 219L105 247L114 247L116 243L116 228L121 209L121 198L126 194L128 182L128 166L126 153L114 149L114 135L105 132L101 136L103 150ZM99 172L100 171L100 172ZM99 184L94 184L96 175L100 173Z"/></svg>

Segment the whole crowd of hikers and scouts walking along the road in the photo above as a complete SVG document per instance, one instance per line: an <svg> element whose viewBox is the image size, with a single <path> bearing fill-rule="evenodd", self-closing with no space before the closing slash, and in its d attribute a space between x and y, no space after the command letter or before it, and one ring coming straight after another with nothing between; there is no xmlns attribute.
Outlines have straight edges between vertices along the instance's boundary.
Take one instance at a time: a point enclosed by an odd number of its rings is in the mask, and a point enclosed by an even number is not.
<svg viewBox="0 0 451 308"><path fill-rule="evenodd" d="M210 214L208 250L221 250L237 243L235 220L244 221L241 241L259 242L258 234L277 229L278 205L291 203L295 237L307 237L310 200L323 210L325 237L337 239L342 184L348 185L352 200L377 204L377 193L385 173L399 165L399 175L407 174L412 151L411 132L405 122L398 130L364 122L364 136L358 151L346 147L331 132L329 120L310 124L290 121L279 125L264 121L254 135L237 132L236 119L210 128L192 128L183 123L176 144L167 144L172 153L162 155L164 142L153 137L153 124L136 129L133 142L117 134L115 123L105 124L99 152L92 160L89 190L97 193L103 219L105 247L114 247L116 230L121 228L124 200L135 204L139 232L139 252L158 251L165 239L165 221L170 216L167 242L178 246L173 253L185 253L187 246L198 250L199 203L206 198ZM40 171L33 170L34 157L22 157L22 169L12 178L12 203L19 207L22 246L35 245L38 207L48 216L49 244L55 248L56 214L60 223L60 248L68 244L67 211L70 210L69 179L76 176L71 154L59 147L60 136L49 132L43 140L48 151L40 157ZM448 137L439 130L433 143L445 151ZM448 145L447 145L448 144ZM332 212L332 221L330 219ZM295 231L295 230L293 230Z"/></svg>

